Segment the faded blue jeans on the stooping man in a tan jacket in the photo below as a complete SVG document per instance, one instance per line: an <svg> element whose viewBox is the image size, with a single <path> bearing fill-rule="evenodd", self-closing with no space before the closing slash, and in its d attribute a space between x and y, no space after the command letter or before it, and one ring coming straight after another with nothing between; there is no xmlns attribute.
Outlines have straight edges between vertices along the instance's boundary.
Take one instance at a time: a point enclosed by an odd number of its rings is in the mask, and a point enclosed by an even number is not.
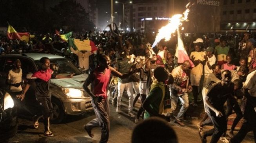
<svg viewBox="0 0 256 143"><path fill-rule="evenodd" d="M182 96L177 96L172 94L171 92L171 110L174 112L174 110L177 107L178 99L180 99L180 102L182 103L182 107L180 108L180 111L178 115L175 117L176 120L180 121L183 119L185 112L189 108L189 95L185 93Z"/></svg>

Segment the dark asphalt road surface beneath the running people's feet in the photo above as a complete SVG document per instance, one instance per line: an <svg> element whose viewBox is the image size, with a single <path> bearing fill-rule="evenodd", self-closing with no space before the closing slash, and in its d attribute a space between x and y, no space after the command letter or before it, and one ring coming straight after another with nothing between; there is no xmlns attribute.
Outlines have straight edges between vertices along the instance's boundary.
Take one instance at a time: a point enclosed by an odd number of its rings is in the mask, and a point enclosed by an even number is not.
<svg viewBox="0 0 256 143"><path fill-rule="evenodd" d="M124 102L124 101L123 101ZM127 106L123 104L123 113L116 113L115 107L110 104L111 129L109 143L131 143L131 134L136 126L134 119L127 116ZM39 123L38 129L32 129L32 122L29 119L19 118L18 133L9 139L9 143L98 143L100 140L100 128L93 129L94 138L90 138L84 131L83 125L95 118L94 112L84 116L67 116L67 120L61 124L51 124L53 137L45 137L44 125ZM170 122L178 136L179 143L200 143L198 129L195 125L197 121L186 121L186 127L180 127ZM208 127L211 128L211 127ZM211 137L208 137L208 142ZM250 133L242 143L252 143L253 135ZM223 143L219 141L219 143Z"/></svg>

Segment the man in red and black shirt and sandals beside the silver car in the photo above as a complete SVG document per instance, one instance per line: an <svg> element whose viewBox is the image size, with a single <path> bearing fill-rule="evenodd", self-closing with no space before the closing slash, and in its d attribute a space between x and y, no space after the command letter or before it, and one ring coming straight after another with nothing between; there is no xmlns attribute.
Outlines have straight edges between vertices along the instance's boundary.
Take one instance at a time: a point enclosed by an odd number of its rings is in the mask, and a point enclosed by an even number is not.
<svg viewBox="0 0 256 143"><path fill-rule="evenodd" d="M71 78L74 74L69 76L62 76L54 74L53 70L50 69L50 59L48 57L42 57L40 59L41 69L36 71L31 80L25 85L25 89L20 95L16 97L24 100L25 94L28 91L32 82L36 83L35 96L38 102L38 105L42 111L43 115L36 115L33 117L34 128L38 128L38 120L44 118L44 135L45 136L54 136L50 130L50 114L52 112L51 105L51 93L49 91L49 86L51 79L61 79L61 78Z"/></svg>

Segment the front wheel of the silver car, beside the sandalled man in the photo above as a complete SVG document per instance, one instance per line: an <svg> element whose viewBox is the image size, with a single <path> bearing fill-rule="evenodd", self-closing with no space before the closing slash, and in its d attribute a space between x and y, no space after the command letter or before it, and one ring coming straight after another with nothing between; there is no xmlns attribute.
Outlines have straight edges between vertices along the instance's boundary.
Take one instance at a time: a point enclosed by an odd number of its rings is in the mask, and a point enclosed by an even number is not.
<svg viewBox="0 0 256 143"><path fill-rule="evenodd" d="M56 98L51 99L53 105L53 113L51 114L51 123L61 123L64 120L65 113L60 100Z"/></svg>

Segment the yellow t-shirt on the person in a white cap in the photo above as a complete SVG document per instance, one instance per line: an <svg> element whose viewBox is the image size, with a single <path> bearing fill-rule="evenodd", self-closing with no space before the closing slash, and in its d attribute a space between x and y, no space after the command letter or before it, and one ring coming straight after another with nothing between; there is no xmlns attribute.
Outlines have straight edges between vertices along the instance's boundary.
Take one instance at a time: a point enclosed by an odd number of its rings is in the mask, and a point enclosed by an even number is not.
<svg viewBox="0 0 256 143"><path fill-rule="evenodd" d="M201 60L204 61L204 55L205 52L192 52L190 55L190 58L192 59L192 56L195 58L194 61L196 60ZM203 64L198 64L196 67L192 68L191 74L193 75L203 75Z"/></svg>

